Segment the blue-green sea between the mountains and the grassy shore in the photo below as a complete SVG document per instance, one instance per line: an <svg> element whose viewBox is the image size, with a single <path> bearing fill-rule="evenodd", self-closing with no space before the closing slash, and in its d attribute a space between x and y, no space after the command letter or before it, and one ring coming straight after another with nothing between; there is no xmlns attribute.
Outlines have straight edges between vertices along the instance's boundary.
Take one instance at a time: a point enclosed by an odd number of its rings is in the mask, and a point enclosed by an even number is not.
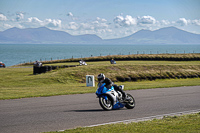
<svg viewBox="0 0 200 133"><path fill-rule="evenodd" d="M200 53L196 45L0 44L0 62L21 63L106 55Z"/></svg>

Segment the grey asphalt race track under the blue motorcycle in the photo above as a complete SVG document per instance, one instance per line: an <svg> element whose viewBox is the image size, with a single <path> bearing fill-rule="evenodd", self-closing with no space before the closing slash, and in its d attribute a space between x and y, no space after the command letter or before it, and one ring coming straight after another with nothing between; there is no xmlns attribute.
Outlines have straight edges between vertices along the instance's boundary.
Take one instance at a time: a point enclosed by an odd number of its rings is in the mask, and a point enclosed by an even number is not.
<svg viewBox="0 0 200 133"><path fill-rule="evenodd" d="M58 131L200 109L200 86L126 91L134 109L103 111L95 94L0 101L1 133Z"/></svg>

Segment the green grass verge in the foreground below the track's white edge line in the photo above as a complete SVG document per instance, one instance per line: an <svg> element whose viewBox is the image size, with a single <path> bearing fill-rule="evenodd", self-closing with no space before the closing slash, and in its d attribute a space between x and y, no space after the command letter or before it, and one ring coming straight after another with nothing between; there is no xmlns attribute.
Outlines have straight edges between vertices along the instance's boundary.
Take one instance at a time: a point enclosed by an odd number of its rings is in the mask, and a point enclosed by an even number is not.
<svg viewBox="0 0 200 133"><path fill-rule="evenodd" d="M62 133L199 133L200 113L138 123L119 123L66 130ZM55 132L49 132L55 133Z"/></svg>

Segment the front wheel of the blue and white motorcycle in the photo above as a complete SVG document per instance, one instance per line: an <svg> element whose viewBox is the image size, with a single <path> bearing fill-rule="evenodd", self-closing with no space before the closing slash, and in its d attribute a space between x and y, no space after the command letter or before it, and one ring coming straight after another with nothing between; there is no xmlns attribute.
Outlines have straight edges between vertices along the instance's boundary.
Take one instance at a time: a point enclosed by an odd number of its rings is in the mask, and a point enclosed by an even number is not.
<svg viewBox="0 0 200 133"><path fill-rule="evenodd" d="M99 98L99 104L101 105L101 107L104 110L109 111L109 110L112 110L112 108L113 108L112 101L111 101L110 97L108 97L107 100L104 97L100 97Z"/></svg>

